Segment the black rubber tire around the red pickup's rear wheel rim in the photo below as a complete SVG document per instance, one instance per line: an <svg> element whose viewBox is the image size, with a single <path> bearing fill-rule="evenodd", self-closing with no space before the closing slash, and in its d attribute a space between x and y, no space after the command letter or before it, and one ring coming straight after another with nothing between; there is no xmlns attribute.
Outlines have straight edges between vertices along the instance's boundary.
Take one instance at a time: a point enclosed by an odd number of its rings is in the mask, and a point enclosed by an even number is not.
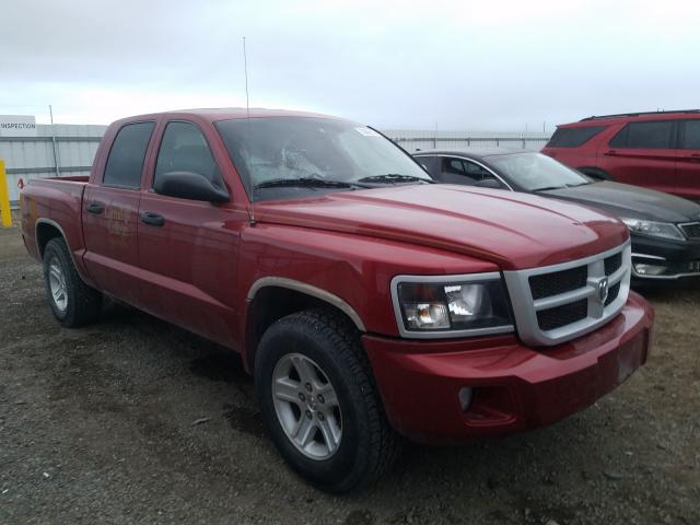
<svg viewBox="0 0 700 525"><path fill-rule="evenodd" d="M54 299L48 283L48 261L57 257L63 276L68 293L68 307L61 313L54 305ZM51 238L44 247L44 280L51 312L56 319L66 328L78 328L95 323L102 314L102 293L85 284L78 275L68 245L61 237Z"/></svg>

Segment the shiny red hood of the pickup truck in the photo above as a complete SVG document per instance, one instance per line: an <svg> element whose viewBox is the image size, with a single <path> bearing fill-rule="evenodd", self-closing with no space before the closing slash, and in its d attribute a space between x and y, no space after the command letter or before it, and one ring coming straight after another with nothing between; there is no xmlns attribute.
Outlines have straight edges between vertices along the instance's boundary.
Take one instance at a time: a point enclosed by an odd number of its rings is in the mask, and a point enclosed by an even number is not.
<svg viewBox="0 0 700 525"><path fill-rule="evenodd" d="M453 185L392 186L256 202L255 219L400 241L489 260L503 270L586 257L623 243L619 221L527 194Z"/></svg>

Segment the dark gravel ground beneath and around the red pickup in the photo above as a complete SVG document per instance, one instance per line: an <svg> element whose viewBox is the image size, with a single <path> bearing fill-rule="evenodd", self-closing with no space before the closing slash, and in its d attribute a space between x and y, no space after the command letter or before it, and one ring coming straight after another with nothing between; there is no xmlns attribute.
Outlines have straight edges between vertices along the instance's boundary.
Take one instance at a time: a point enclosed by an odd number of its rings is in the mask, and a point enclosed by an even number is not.
<svg viewBox="0 0 700 525"><path fill-rule="evenodd" d="M700 284L648 295L645 368L552 427L409 446L359 494L314 490L217 346L136 311L62 329L0 231L0 523L700 523Z"/></svg>

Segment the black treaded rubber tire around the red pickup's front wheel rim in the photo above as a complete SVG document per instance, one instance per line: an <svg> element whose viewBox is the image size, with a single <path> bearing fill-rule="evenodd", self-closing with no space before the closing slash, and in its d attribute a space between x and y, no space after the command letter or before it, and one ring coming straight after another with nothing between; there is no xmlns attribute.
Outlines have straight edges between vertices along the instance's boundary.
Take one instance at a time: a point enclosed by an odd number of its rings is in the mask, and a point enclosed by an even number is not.
<svg viewBox="0 0 700 525"><path fill-rule="evenodd" d="M372 368L360 342L359 332L342 314L329 308L314 308L291 314L276 322L264 335L260 347L264 347L269 334L284 331L292 327L295 330L311 329L313 334L327 342L328 351L332 352L335 359L341 363L340 370L359 387L358 392L361 398L354 399L354 401L363 405L369 423L369 439L362 440L365 444L358 450L353 469L350 472L338 472L339 475L346 474L345 477L339 476L339 479L332 482L319 482L310 478L307 472L300 471L300 474L325 491L342 493L361 490L392 467L400 454L402 440L386 419ZM256 354L256 388L261 385L259 374L264 370L261 361L265 358L264 352L258 351ZM259 395L261 390L259 388ZM275 413L270 416L271 419L277 419ZM300 470L293 464L292 467Z"/></svg>

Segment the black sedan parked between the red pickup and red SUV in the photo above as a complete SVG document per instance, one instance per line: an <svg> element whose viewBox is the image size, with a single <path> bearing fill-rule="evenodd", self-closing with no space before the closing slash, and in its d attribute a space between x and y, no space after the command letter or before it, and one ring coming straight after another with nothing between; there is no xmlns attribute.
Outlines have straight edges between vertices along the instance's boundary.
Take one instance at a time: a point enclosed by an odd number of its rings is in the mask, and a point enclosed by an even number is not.
<svg viewBox="0 0 700 525"><path fill-rule="evenodd" d="M421 151L433 178L525 191L595 206L625 222L637 279L700 277L700 205L673 195L596 180L537 152L509 149Z"/></svg>

